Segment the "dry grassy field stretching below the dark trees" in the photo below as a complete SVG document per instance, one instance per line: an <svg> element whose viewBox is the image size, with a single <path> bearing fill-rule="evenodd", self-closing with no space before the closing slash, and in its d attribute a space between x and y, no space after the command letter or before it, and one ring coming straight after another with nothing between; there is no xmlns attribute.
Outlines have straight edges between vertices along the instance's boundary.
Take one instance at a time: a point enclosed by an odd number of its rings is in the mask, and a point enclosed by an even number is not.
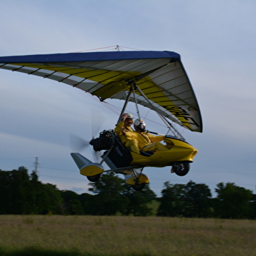
<svg viewBox="0 0 256 256"><path fill-rule="evenodd" d="M256 255L256 221L0 216L0 255Z"/></svg>

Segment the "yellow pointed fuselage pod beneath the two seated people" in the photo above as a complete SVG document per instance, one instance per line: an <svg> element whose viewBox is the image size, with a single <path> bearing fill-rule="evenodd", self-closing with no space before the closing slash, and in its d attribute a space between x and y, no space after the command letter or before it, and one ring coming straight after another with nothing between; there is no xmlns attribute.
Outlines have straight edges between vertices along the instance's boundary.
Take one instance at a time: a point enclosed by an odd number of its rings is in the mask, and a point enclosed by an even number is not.
<svg viewBox="0 0 256 256"><path fill-rule="evenodd" d="M133 161L131 165L142 165L145 167L165 167L172 165L177 161L189 161L193 162L198 150L176 138L165 138L165 143L169 150L157 151L150 157L140 155L138 153L131 152Z"/></svg>

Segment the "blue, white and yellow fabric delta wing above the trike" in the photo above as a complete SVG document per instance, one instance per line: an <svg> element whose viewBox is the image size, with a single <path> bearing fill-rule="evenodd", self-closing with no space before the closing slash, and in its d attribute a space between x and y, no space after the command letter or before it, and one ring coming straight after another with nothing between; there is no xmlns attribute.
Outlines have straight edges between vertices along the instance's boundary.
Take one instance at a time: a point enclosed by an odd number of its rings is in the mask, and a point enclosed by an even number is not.
<svg viewBox="0 0 256 256"><path fill-rule="evenodd" d="M125 99L132 80L166 118L202 132L199 105L175 52L127 51L0 57L0 68L49 78L104 99ZM130 101L133 101L131 97Z"/></svg>

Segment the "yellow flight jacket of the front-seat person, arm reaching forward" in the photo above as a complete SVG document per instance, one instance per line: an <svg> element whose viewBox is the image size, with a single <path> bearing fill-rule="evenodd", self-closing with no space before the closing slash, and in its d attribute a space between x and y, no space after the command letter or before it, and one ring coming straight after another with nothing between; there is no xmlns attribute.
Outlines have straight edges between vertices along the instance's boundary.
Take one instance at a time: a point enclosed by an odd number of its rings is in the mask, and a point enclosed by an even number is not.
<svg viewBox="0 0 256 256"><path fill-rule="evenodd" d="M146 132L140 133L138 131L127 131L126 138L127 140L138 140L138 148L142 150L145 146L148 146L153 142L164 140L165 136L154 136Z"/></svg>

